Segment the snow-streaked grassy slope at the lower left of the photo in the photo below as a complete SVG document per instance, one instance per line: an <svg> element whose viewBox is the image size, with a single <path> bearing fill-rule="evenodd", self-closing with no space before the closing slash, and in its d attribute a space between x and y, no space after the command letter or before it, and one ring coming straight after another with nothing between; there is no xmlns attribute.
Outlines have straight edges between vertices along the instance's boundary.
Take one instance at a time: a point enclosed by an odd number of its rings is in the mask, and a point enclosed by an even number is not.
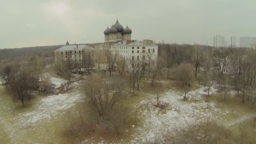
<svg viewBox="0 0 256 144"><path fill-rule="evenodd" d="M43 127L47 127L47 124L44 125L44 123L49 124L52 123L52 120L59 120L61 114L75 106L77 101L83 101L83 98L81 92L75 90L69 93L38 97L32 107L29 107L26 111L15 112L15 115L12 114L11 103L0 102L0 108L4 108L2 109L3 113L0 112L0 127L3 126L0 128L0 132L1 130L4 131L9 139L9 141L4 141L3 144L9 142L13 144L34 143L39 139L44 141L45 137L49 137L49 133L44 133L45 136L38 136L38 133L41 133L40 131L44 129ZM39 131L39 129L41 130ZM58 129L58 127L53 129ZM35 131L35 135L32 136L31 131ZM3 138L6 139L6 137ZM46 139L46 141L54 141L54 139Z"/></svg>

